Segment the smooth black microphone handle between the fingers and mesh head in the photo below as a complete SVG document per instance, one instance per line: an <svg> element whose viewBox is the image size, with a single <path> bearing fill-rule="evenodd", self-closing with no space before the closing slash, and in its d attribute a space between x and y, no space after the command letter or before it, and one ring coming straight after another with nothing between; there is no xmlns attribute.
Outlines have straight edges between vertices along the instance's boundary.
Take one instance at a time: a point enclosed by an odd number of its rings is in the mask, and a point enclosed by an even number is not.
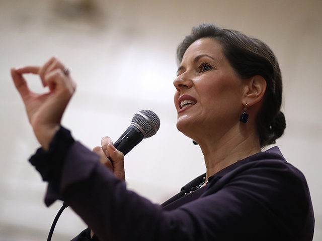
<svg viewBox="0 0 322 241"><path fill-rule="evenodd" d="M114 143L114 147L124 156L143 140L144 136L139 129L131 125Z"/></svg>

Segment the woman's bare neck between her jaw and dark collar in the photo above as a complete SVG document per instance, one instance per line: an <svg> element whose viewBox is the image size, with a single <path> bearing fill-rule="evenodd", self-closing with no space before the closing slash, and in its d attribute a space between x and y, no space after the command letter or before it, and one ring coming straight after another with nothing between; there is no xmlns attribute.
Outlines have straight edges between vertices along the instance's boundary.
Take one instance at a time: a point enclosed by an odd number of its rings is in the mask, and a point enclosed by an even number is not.
<svg viewBox="0 0 322 241"><path fill-rule="evenodd" d="M244 125L244 124L242 124ZM242 128L247 128L243 127ZM210 176L231 164L261 152L259 138L255 130L240 130L239 126L220 137L199 141L206 165L206 181Z"/></svg>

